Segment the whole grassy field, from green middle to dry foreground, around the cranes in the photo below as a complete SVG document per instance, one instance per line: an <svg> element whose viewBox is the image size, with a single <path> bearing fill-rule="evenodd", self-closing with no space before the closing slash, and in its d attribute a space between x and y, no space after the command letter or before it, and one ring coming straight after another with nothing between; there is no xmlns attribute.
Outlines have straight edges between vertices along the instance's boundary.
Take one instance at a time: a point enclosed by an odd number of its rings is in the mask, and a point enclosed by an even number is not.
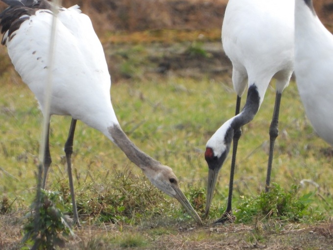
<svg viewBox="0 0 333 250"><path fill-rule="evenodd" d="M136 65L140 57L147 56L145 46L147 44L130 50L124 47L118 53L130 55L130 63ZM188 43L184 47L184 50L189 48ZM199 49L201 52L201 45ZM1 48L0 52L4 54L5 50ZM130 77L114 81L111 88L120 125L140 149L174 170L181 188L199 214L203 213L207 178L203 152L210 136L235 112L236 97L230 78L181 77L172 73L146 77L144 70L135 71L125 66L124 73L130 72ZM33 94L8 62L3 61L0 67L3 68L0 69L0 207L3 214L0 216L0 248L15 249L13 244L21 237L23 222L20 218L28 211L35 195L42 115ZM244 200L255 199L264 189L274 97L274 88L269 87L255 119L242 128L234 208ZM245 98L242 101L244 103ZM63 152L69 125L68 117L51 119L53 163L48 187L61 191L64 200L70 199ZM112 142L78 122L72 163L83 228L75 230L80 240L72 239L68 248L200 249L209 245L242 249L256 244L258 247L276 244L281 249L289 249L294 244L302 246L301 249L316 249L313 246L320 243L320 235L325 235L327 241L332 239L332 223L328 219L333 206L332 149L310 126L294 81L283 95L279 128L272 182L285 190L280 193L287 193L292 185L303 183L298 197L311 199L310 208L323 214L328 223L322 223L315 216L297 224L285 218L256 216L246 224L211 227L210 223L223 212L227 200L231 158L228 157L219 174L206 226L195 228L179 204L152 187ZM131 195L127 195L127 190L131 190ZM144 193L154 198L150 199L151 203ZM309 193L313 193L310 198ZM147 207L149 209L145 209ZM4 228L10 231L2 232ZM292 240L296 236L297 239L308 238L310 231L319 235L312 245Z"/></svg>

